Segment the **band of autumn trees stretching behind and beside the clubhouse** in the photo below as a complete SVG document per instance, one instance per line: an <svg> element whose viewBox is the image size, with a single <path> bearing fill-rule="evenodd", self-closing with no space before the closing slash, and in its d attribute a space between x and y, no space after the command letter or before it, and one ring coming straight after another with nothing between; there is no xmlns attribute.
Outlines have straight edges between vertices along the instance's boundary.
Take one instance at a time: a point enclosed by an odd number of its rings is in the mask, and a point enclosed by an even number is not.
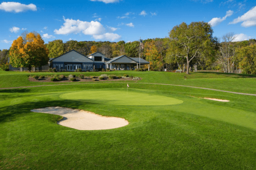
<svg viewBox="0 0 256 170"><path fill-rule="evenodd" d="M42 45L43 40L38 35L36 32L22 33L9 50L0 51L0 64L6 63L8 56L11 56L11 63L14 66L31 67L35 66L36 62L41 62L40 59L36 60L35 55L40 55L39 58L43 58L45 63L45 54L49 58L55 58L74 49L85 56L99 51L107 58L121 55L139 57L140 54L141 58L150 62L150 69L155 71L179 69L189 73L196 66L199 70L221 70L225 73L233 73L239 67L243 73L256 74L256 40L233 42L235 34L230 32L221 38L213 37L213 29L207 22L192 22L189 25L182 22L173 27L169 37L142 41L143 49L140 49L139 41L71 40L63 42L54 40ZM33 38L36 43L41 43L37 48L41 49L41 52L32 54L29 50L29 48L35 48L32 43ZM18 50L18 47L22 49ZM30 51L30 54L26 50ZM45 54L42 53L43 51ZM29 59L34 61L22 64L21 61Z"/></svg>

